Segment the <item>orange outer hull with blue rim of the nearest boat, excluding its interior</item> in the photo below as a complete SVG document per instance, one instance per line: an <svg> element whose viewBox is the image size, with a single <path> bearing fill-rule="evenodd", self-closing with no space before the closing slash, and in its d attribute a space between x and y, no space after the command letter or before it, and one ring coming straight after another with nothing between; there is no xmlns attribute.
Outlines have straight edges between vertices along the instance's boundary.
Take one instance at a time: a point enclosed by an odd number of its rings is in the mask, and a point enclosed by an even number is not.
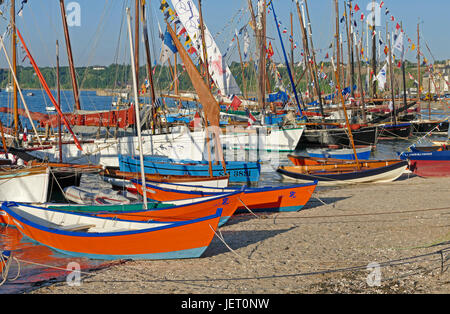
<svg viewBox="0 0 450 314"><path fill-rule="evenodd" d="M157 228L89 233L47 228L23 219L8 206L3 203L2 210L14 220L22 234L56 251L94 259L199 257L209 246L221 215L221 209L218 209L211 216Z"/></svg>

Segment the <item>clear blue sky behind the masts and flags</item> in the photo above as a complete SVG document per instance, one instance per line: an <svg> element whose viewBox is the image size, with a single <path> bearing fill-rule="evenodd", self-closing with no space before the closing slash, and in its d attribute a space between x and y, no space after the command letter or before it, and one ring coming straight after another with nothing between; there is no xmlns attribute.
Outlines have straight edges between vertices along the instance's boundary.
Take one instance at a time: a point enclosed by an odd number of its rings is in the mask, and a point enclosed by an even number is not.
<svg viewBox="0 0 450 314"><path fill-rule="evenodd" d="M9 23L9 6L11 0L4 0L0 5L2 15L0 18L0 34L5 35L5 45L10 53L10 35L6 33ZM16 11L19 11L22 0L16 0ZM169 4L171 1L168 0ZM381 0L379 1L381 2ZM75 3L75 7L73 4ZM194 0L197 5L198 0ZM256 7L256 0L253 0ZM149 35L152 39L152 58L159 57L161 42L158 38L158 21L163 24L163 16L159 11L160 0L147 0L149 7ZM295 1L273 0L275 12L281 27L287 27L290 32L290 13L293 13L294 42L299 46L294 51L295 60L301 59L301 33ZM343 14L344 1L339 2L340 17ZM356 13L358 29L361 28L361 12L367 16L371 8L371 0L353 1L360 11ZM67 14L75 14L80 9L79 25L77 20L72 20L75 25L69 27L74 63L76 66L109 65L115 62L129 63L129 39L126 29L125 8L130 7L134 13L134 0L65 0ZM78 7L76 6L78 5ZM309 11L312 23L314 46L318 51L318 58L323 59L328 47L333 40L335 32L335 15L333 0L309 0ZM224 53L229 46L235 29L240 29L249 21L247 0L202 0L203 16L205 24L216 39L216 42ZM385 15L385 9L390 11ZM450 59L450 1L448 0L385 0L381 9L381 27L383 41L386 34L386 17L394 16L395 21L389 22L390 31L395 30L397 23L402 23L408 38L412 43L417 42L417 24L420 24L422 51L428 60ZM22 16L16 17L16 24L22 33L28 48L39 66L54 66L56 54L56 40L60 42L61 65L67 65L66 46L61 22L61 11L58 0L28 0L24 5ZM71 15L72 17L74 15ZM278 34L274 23L273 13L267 16L267 36L274 46L275 59L283 61L282 50L279 44ZM134 23L134 22L132 22ZM343 29L341 24L341 31ZM252 35L252 31L250 30ZM285 45L288 45L286 35L283 35ZM345 36L346 37L346 36ZM254 49L253 49L254 50ZM141 50L143 51L143 50ZM331 51L330 51L331 52ZM18 64L29 66L24 54L18 48ZM144 63L144 53L140 54L141 64ZM409 50L407 59L415 60L415 52ZM228 55L228 63L237 61L236 49ZM0 55L0 67L6 68L6 58Z"/></svg>

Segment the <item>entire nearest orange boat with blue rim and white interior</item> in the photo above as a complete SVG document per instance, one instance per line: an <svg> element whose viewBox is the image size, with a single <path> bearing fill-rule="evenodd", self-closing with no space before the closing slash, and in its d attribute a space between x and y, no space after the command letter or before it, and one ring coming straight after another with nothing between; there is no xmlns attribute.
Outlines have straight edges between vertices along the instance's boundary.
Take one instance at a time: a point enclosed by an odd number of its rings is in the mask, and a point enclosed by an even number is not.
<svg viewBox="0 0 450 314"><path fill-rule="evenodd" d="M178 222L141 222L61 212L4 202L1 212L19 231L55 251L93 259L200 257L211 243L222 210Z"/></svg>

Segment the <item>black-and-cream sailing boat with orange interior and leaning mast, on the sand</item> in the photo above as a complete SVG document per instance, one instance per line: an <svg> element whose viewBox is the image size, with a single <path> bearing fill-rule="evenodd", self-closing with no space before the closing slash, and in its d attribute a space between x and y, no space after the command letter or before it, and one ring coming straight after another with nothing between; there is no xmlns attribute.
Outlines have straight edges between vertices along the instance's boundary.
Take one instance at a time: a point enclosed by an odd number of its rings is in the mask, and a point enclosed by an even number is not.
<svg viewBox="0 0 450 314"><path fill-rule="evenodd" d="M335 0L336 12L339 12L338 2ZM336 46L339 47L339 14L336 14ZM352 129L350 127L344 97L340 85L340 62L337 67L332 64L336 76L338 94L341 96L342 108L346 120L348 137L352 145L355 161L329 161L325 164L313 166L281 166L277 172L284 179L296 182L317 180L319 185L341 185L368 182L391 182L398 179L406 170L407 163L402 160L374 160L360 162L356 153Z"/></svg>

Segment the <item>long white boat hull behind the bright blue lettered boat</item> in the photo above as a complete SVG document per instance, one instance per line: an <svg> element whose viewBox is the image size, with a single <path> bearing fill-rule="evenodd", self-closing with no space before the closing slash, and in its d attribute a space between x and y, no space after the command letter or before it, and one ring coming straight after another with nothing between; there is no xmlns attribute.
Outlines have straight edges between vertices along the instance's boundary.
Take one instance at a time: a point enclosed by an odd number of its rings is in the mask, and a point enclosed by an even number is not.
<svg viewBox="0 0 450 314"><path fill-rule="evenodd" d="M243 130L243 129L241 129ZM221 143L224 145L225 156L235 154L236 150L251 150L266 152L294 151L303 134L304 128L296 129L265 129L260 132L229 132L221 135ZM213 143L213 141L211 141ZM143 135L142 146L144 155L163 155L173 159L207 160L206 140L204 131L189 132L182 128L179 132L171 134ZM108 167L119 167L117 156L139 154L138 137L127 136L117 139L99 139L92 143L82 144L80 151L73 144L62 146L63 161L78 164L98 164ZM227 153L229 152L229 155ZM58 145L45 150L30 152L35 157L50 161L59 161ZM251 156L250 156L251 157ZM236 158L236 157L234 157ZM238 159L232 160L243 160ZM259 156L254 155L257 161ZM244 158L245 159L245 158ZM228 159L227 159L228 160Z"/></svg>

